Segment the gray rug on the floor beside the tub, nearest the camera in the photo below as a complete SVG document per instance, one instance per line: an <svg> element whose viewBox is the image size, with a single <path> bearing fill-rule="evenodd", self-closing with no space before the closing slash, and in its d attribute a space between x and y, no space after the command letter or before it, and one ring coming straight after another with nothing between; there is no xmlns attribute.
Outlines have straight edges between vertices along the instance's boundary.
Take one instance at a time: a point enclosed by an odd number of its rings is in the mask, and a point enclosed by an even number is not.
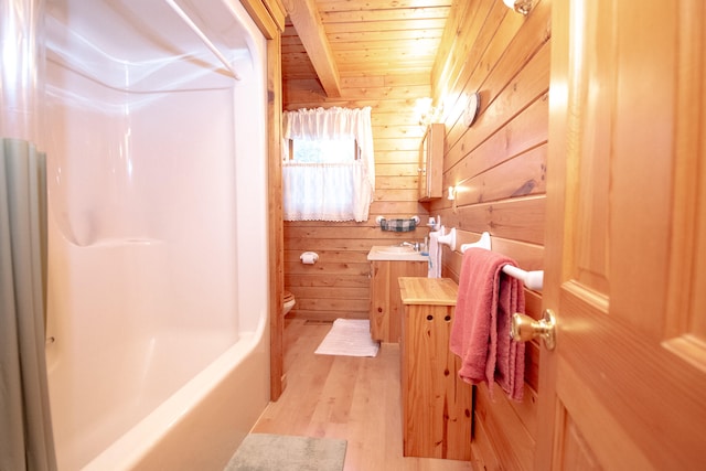
<svg viewBox="0 0 706 471"><path fill-rule="evenodd" d="M341 471L345 440L250 433L224 471Z"/></svg>

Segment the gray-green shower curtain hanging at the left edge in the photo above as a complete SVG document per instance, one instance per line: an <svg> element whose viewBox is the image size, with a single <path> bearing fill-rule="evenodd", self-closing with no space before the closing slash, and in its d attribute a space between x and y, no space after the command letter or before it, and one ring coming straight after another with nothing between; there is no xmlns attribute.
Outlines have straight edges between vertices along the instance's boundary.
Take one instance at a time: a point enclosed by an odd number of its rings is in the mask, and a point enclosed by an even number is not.
<svg viewBox="0 0 706 471"><path fill-rule="evenodd" d="M56 469L45 346L46 162L0 139L0 470Z"/></svg>

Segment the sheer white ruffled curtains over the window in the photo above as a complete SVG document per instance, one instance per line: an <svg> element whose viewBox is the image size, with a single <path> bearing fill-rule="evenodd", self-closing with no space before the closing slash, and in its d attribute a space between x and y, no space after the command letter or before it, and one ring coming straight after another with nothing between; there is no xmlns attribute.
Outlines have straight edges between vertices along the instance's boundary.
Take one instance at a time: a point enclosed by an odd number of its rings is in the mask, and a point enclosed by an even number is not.
<svg viewBox="0 0 706 471"><path fill-rule="evenodd" d="M300 163L289 160L289 140L355 138L360 160ZM282 132L285 221L367 221L375 191L371 108L285 111Z"/></svg>

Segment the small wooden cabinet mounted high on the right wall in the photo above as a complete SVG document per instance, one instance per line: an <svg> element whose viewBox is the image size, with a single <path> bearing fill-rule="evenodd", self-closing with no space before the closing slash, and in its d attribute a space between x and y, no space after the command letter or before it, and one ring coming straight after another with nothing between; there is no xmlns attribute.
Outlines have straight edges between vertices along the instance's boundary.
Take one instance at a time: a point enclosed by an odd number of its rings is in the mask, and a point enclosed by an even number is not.
<svg viewBox="0 0 706 471"><path fill-rule="evenodd" d="M442 124L432 122L427 127L419 146L419 201L441 197L443 188L443 133Z"/></svg>

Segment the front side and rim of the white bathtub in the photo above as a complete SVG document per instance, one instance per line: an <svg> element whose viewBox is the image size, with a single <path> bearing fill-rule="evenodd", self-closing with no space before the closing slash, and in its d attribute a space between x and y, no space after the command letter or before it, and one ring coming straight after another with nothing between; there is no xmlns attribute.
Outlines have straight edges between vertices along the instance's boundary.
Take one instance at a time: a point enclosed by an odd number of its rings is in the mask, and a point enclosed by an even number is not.
<svg viewBox="0 0 706 471"><path fill-rule="evenodd" d="M83 469L223 470L266 404L264 329L244 335Z"/></svg>

